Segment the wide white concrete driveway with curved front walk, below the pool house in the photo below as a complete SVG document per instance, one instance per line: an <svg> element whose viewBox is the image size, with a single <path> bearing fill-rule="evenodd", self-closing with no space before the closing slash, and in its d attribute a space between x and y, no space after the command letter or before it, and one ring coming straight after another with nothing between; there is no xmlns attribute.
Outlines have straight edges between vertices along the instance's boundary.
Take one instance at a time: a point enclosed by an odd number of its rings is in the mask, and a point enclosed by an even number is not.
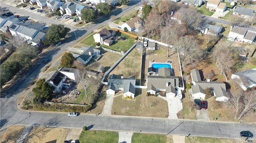
<svg viewBox="0 0 256 143"><path fill-rule="evenodd" d="M177 113L183 109L182 102L179 98L170 98L170 97L163 97L158 95L158 97L166 100L168 102L168 119L178 119Z"/></svg>

